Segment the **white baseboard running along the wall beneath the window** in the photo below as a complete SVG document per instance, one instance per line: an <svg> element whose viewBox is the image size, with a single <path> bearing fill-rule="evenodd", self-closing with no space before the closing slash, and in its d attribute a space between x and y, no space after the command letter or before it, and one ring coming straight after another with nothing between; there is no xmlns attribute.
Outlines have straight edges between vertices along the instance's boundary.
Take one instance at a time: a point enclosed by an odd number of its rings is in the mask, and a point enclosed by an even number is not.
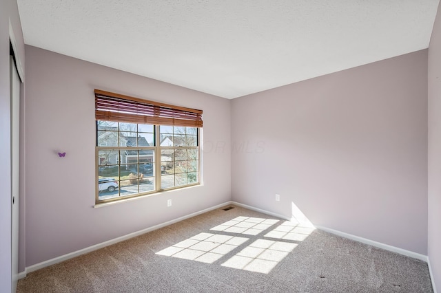
<svg viewBox="0 0 441 293"><path fill-rule="evenodd" d="M68 254L61 255L60 257L55 257L53 259L48 259L47 261L43 261L41 263L36 263L34 265L31 265L30 267L27 267L25 269L25 272L27 272L27 273L34 272L34 271L39 270L41 268L48 267L49 265L54 265L56 263L61 263L62 261L67 261L68 259L72 259L74 257L78 257L81 254L86 254L88 252L92 252L94 250L98 250L100 248L104 248L106 246L110 246L110 245L112 245L114 243L118 243L118 242L125 241L127 239L130 239L130 238L133 238L133 237L136 237L136 236L139 236L139 235L143 235L143 234L145 234L147 232L151 232L153 230L157 230L159 228L163 228L165 226L169 226L171 224L177 223L178 221L183 221L185 219L189 219L191 217L194 217L194 216L197 216L197 215L201 215L203 213L207 213L210 210L216 210L216 208L222 208L223 206L227 206L228 204L231 204L231 203L232 202L224 202L223 204L218 204L217 206L212 206L211 208L205 208L204 210L199 210L196 213L185 215L183 217L178 217L177 219L172 219L170 221L166 221L165 223L158 224L158 225L152 226L150 228L145 228L145 229L137 231L137 232L132 232L130 234L127 234L127 235L124 235L124 236L121 236L121 237L117 237L115 239L110 239L108 241L95 244L94 246L89 246L89 247L83 248L81 250L76 250L74 252L70 252Z"/></svg>

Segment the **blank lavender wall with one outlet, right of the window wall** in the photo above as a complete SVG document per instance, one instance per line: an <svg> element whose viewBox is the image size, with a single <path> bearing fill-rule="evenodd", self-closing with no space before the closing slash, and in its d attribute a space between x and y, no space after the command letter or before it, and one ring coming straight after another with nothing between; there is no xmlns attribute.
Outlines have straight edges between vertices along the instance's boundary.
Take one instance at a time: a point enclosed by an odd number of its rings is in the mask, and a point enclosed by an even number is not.
<svg viewBox="0 0 441 293"><path fill-rule="evenodd" d="M234 201L427 254L427 50L234 99L232 125Z"/></svg>

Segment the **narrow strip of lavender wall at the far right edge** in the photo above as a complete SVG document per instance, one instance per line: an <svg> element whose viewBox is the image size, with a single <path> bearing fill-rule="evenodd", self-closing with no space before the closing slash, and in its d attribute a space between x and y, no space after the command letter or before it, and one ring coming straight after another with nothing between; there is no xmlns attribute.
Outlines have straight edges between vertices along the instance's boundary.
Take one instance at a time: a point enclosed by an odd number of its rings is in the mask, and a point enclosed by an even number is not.
<svg viewBox="0 0 441 293"><path fill-rule="evenodd" d="M441 6L429 46L429 261L441 288Z"/></svg>

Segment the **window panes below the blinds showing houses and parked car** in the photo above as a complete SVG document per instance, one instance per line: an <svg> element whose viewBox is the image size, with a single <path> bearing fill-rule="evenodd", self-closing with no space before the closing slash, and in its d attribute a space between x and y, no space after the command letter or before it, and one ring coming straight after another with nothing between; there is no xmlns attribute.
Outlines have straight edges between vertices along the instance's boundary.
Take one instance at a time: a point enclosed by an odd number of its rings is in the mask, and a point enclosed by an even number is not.
<svg viewBox="0 0 441 293"><path fill-rule="evenodd" d="M96 120L97 202L199 183L197 127Z"/></svg>

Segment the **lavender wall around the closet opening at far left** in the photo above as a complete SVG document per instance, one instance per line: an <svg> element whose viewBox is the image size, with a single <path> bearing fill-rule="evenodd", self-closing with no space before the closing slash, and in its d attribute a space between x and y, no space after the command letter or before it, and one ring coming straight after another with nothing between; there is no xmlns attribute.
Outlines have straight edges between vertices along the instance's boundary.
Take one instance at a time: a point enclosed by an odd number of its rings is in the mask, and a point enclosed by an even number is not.
<svg viewBox="0 0 441 293"><path fill-rule="evenodd" d="M0 1L0 288L11 291L11 189L10 189L10 73L9 21L24 65L24 42L17 2Z"/></svg>

